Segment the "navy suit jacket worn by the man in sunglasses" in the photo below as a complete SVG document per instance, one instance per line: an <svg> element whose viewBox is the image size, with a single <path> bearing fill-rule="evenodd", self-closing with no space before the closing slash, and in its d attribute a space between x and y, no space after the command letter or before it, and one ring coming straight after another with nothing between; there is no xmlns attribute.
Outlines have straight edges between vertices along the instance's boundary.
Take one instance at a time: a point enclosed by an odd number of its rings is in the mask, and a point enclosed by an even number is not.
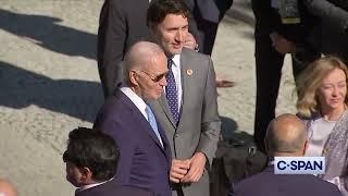
<svg viewBox="0 0 348 196"><path fill-rule="evenodd" d="M105 100L95 127L111 135L121 151L116 179L123 185L147 188L156 196L171 196L171 147L160 124L161 146L151 125L120 89Z"/></svg>

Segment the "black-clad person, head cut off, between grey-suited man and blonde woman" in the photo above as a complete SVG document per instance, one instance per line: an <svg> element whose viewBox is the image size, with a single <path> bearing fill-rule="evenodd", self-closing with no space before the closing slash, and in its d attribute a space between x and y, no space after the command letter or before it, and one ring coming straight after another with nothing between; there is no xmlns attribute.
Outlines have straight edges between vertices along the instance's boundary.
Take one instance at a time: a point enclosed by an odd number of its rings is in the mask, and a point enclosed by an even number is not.
<svg viewBox="0 0 348 196"><path fill-rule="evenodd" d="M297 3L293 10L298 14L286 15L283 10L288 5L281 2ZM256 16L256 74L257 101L254 114L254 140L264 151L263 138L269 122L275 117L275 106L279 89L284 57L291 53L295 81L306 64L320 57L311 47L309 33L315 20L307 11L302 1L251 0ZM294 5L294 4L291 4ZM282 15L282 14L283 15Z"/></svg>

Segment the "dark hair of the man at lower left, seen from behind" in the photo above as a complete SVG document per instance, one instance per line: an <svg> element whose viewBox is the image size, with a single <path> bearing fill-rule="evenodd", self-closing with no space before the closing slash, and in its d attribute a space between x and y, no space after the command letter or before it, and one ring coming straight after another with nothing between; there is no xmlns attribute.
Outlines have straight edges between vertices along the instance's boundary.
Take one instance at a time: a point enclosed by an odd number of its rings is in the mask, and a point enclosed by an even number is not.
<svg viewBox="0 0 348 196"><path fill-rule="evenodd" d="M88 168L92 180L108 181L115 175L120 150L114 139L96 130L78 127L69 134L64 162Z"/></svg>

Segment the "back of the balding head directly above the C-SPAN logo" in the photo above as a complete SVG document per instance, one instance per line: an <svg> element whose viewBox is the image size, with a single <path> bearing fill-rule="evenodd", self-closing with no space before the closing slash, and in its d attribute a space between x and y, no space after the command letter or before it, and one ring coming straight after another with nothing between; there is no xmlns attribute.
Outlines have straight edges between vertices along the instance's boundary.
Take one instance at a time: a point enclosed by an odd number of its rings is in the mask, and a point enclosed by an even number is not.
<svg viewBox="0 0 348 196"><path fill-rule="evenodd" d="M270 122L265 135L269 156L302 156L306 149L306 126L296 115L285 113Z"/></svg>

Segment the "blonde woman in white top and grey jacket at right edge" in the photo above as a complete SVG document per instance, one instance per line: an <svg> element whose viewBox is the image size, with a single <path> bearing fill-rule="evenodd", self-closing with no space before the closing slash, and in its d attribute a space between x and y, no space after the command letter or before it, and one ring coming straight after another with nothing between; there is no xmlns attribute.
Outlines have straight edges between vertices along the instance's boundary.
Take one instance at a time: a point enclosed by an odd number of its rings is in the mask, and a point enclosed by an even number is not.
<svg viewBox="0 0 348 196"><path fill-rule="evenodd" d="M302 73L297 109L308 128L306 156L324 156L326 172L320 177L348 195L347 65L324 57Z"/></svg>

